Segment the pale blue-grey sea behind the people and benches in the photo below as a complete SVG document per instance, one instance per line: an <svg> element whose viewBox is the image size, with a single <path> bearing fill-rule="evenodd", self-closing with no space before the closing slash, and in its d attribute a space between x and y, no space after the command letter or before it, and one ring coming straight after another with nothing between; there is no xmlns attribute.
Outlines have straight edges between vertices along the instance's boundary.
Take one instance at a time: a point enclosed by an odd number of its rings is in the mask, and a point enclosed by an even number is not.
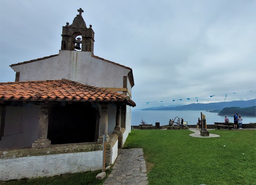
<svg viewBox="0 0 256 185"><path fill-rule="evenodd" d="M170 119L177 121L178 117L188 122L188 125L196 125L197 120L201 117L201 112L206 116L206 124L214 125L214 122L224 122L225 116L218 116L218 113L206 112L205 110L132 110L132 125L139 125L140 122L146 121L147 124L168 125ZM239 113L238 113L239 114ZM256 122L256 117L243 117L243 123ZM233 116L227 116L230 122L234 122Z"/></svg>

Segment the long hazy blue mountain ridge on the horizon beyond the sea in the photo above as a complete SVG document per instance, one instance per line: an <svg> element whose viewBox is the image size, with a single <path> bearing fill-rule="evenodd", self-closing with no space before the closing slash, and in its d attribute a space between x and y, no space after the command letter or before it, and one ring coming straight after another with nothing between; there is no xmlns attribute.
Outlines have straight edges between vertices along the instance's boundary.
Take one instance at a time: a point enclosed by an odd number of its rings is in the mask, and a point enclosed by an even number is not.
<svg viewBox="0 0 256 185"><path fill-rule="evenodd" d="M177 107L150 107L142 110L222 110L225 107L251 107L256 105L256 99L240 100L231 102L218 102L218 103L192 103L188 105L182 105Z"/></svg>

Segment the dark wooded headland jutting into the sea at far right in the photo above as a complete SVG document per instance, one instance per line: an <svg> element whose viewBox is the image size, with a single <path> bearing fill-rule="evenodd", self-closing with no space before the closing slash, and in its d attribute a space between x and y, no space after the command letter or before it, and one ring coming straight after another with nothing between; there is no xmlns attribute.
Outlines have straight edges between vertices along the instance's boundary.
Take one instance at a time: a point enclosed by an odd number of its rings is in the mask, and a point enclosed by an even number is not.
<svg viewBox="0 0 256 185"><path fill-rule="evenodd" d="M252 107L225 107L219 112L219 116L234 116L234 114L238 113L241 116L252 116L256 117L256 106Z"/></svg>

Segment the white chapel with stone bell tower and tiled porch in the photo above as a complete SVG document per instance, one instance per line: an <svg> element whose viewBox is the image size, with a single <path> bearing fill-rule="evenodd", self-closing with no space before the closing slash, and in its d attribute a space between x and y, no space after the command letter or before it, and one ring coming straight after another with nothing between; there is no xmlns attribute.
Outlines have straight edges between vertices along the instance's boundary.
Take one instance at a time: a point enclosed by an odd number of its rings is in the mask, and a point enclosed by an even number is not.
<svg viewBox="0 0 256 185"><path fill-rule="evenodd" d="M82 8L59 54L10 65L0 83L0 181L99 170L131 132L132 69L94 55Z"/></svg>

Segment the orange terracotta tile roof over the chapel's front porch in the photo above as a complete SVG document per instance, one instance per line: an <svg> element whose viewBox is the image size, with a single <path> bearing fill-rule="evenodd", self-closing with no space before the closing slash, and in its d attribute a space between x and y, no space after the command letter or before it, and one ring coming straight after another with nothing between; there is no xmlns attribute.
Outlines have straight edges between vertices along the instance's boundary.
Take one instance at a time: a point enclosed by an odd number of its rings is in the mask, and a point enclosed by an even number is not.
<svg viewBox="0 0 256 185"><path fill-rule="evenodd" d="M67 79L0 83L0 101L125 102L136 106L126 95Z"/></svg>

